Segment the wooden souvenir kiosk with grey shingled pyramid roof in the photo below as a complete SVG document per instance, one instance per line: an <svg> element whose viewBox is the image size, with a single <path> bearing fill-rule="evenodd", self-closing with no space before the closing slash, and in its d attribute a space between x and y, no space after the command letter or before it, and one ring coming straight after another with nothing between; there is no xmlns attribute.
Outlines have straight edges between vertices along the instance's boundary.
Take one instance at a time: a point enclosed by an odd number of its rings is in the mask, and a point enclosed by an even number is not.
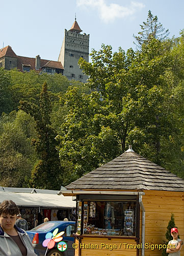
<svg viewBox="0 0 184 256"><path fill-rule="evenodd" d="M183 180L132 146L66 188L59 194L76 197L75 256L161 256L172 213L183 240Z"/></svg>

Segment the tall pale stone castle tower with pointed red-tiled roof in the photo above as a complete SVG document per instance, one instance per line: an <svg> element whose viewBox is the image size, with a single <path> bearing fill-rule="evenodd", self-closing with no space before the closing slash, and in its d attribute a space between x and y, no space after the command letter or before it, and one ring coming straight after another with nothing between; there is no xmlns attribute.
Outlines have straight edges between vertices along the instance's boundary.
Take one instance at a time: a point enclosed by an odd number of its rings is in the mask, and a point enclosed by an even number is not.
<svg viewBox="0 0 184 256"><path fill-rule="evenodd" d="M68 79L86 82L88 76L82 73L78 66L78 60L82 57L89 61L89 35L80 34L82 30L75 21L70 30L65 29L63 44L58 61L64 67L63 75Z"/></svg>

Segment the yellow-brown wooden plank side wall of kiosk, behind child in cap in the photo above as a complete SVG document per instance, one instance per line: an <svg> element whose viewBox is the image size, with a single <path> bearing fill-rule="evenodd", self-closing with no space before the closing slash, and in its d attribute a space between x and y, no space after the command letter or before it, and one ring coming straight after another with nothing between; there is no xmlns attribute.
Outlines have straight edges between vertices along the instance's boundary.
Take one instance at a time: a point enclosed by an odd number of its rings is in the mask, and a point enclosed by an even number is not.
<svg viewBox="0 0 184 256"><path fill-rule="evenodd" d="M145 243L162 244L167 231L171 213L174 214L175 225L178 227L180 239L184 235L184 202L182 192L144 190L142 201L146 211ZM142 212L140 215L140 235L142 234ZM183 255L183 247L181 255ZM141 251L140 251L141 252ZM141 255L141 254L140 254ZM161 256L162 250L145 249L145 256Z"/></svg>

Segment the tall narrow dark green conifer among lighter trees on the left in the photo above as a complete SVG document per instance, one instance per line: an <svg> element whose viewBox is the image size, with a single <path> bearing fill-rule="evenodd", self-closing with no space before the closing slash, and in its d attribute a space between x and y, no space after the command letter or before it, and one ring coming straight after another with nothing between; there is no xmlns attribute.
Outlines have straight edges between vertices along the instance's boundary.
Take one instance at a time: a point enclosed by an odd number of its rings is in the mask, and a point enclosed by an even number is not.
<svg viewBox="0 0 184 256"><path fill-rule="evenodd" d="M39 160L32 169L30 185L37 188L59 189L62 169L56 151L57 134L50 124L51 102L46 83L42 86L37 104L20 101L19 108L30 114L36 123L37 139L32 139L32 144Z"/></svg>

